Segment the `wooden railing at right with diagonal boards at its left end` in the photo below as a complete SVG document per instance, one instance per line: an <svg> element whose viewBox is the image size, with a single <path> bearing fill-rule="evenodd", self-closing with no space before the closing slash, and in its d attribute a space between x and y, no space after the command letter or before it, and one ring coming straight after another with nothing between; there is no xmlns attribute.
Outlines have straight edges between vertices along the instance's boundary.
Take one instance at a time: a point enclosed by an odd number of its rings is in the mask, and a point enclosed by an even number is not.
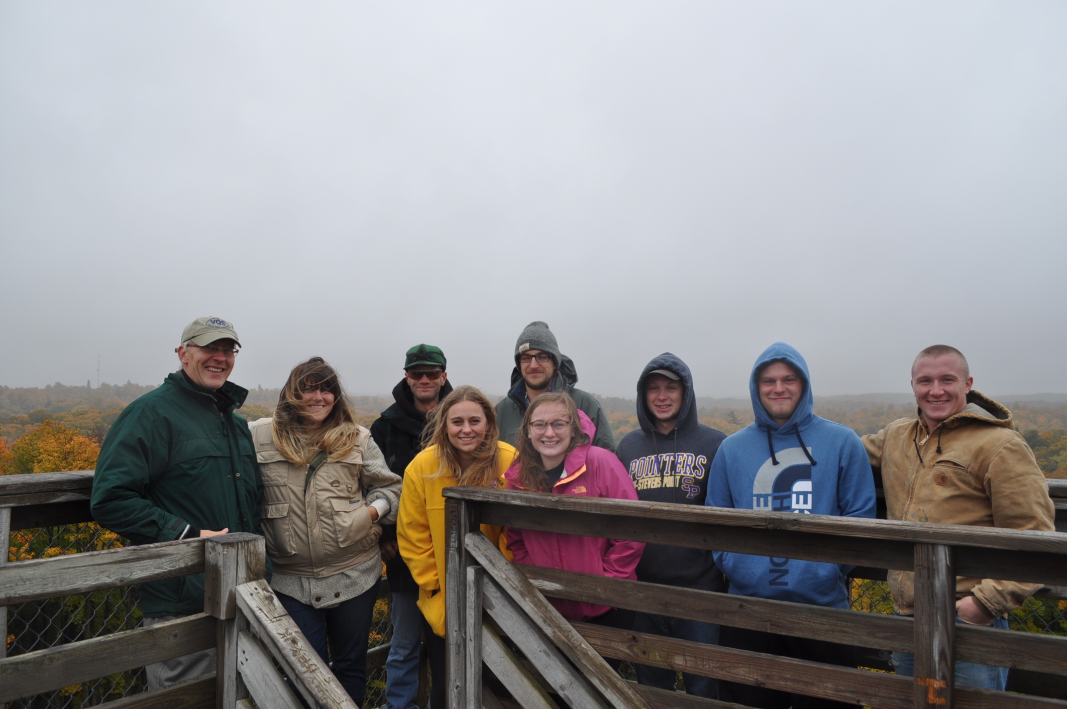
<svg viewBox="0 0 1067 709"><path fill-rule="evenodd" d="M484 488L447 488L449 709L491 706L484 661L526 709L719 707L631 686L603 657L885 709L1067 707L1047 697L956 687L956 660L1067 680L1067 639L957 625L956 576L1067 586L1067 534L856 520ZM915 574L914 618L817 608L509 564L481 523ZM542 593L543 592L543 593ZM913 652L915 678L570 624L544 595ZM527 663L499 642L506 633ZM562 661L566 657L567 661ZM537 676L540 675L540 676Z"/></svg>

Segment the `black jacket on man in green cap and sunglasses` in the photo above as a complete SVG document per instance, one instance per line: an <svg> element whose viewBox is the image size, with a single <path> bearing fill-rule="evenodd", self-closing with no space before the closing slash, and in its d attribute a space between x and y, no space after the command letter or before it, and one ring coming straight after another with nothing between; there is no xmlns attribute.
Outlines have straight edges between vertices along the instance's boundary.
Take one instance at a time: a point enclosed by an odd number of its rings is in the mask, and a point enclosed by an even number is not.
<svg viewBox="0 0 1067 709"><path fill-rule="evenodd" d="M452 391L452 384L445 381L441 388L441 398ZM393 406L382 411L375 423L370 425L370 437L385 456L385 464L394 473L403 477L403 471L421 451L423 429L426 428L426 414L415 408L415 396L411 393L407 378L393 388ZM401 494L403 494L401 492ZM395 524L383 525L379 541L395 541L397 527ZM385 562L386 578L391 590L418 590L418 584L411 578L408 565L397 554Z"/></svg>

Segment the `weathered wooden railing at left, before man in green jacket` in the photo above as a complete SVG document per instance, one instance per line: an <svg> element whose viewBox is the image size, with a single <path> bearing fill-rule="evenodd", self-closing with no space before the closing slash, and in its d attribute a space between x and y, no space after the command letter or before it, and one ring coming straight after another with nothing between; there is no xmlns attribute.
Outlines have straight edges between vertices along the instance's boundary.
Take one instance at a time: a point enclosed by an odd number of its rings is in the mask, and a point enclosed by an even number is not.
<svg viewBox="0 0 1067 709"><path fill-rule="evenodd" d="M0 476L0 539L6 541L14 530L91 520L91 488L92 471ZM7 561L6 551L2 560ZM107 706L251 709L254 700L260 709L300 709L299 694L309 707L355 709L262 580L265 568L265 541L254 534L0 566L0 611L48 598L205 574L203 613L0 659L0 705L214 647L214 674Z"/></svg>

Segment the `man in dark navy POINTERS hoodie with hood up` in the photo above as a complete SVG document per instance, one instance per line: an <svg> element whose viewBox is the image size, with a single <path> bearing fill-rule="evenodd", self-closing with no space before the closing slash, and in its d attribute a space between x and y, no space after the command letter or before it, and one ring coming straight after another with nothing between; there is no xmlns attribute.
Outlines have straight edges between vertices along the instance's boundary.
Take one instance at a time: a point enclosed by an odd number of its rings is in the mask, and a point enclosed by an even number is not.
<svg viewBox="0 0 1067 709"><path fill-rule="evenodd" d="M626 434L618 453L637 488L637 499L704 504L707 471L726 434L697 421L697 395L685 362L664 352L646 365L637 380L637 420L640 430ZM701 590L726 589L712 552L682 547L646 545L637 580ZM654 613L637 613L634 630L712 645L719 642L715 624ZM673 669L641 664L635 664L634 669L641 684L674 689L678 674ZM688 694L718 698L718 680L689 673L683 676Z"/></svg>

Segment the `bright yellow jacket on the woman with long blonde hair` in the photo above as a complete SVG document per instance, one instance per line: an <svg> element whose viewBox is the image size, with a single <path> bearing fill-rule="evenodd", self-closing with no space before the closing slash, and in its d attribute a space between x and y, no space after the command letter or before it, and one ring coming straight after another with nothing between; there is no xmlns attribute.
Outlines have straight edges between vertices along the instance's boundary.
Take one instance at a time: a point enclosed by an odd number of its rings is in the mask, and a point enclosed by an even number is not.
<svg viewBox="0 0 1067 709"><path fill-rule="evenodd" d="M499 480L503 489L504 471L515 458L515 450L499 441ZM445 635L445 552L447 534L445 530L445 499L441 491L458 485L451 471L437 474L441 460L436 446L431 445L411 461L403 475L403 491L400 493L400 514L397 518L397 542L412 578L418 584L418 609L423 617L433 628L433 632ZM503 526L482 524L481 532L497 547L501 546ZM501 551L512 560L511 553Z"/></svg>

